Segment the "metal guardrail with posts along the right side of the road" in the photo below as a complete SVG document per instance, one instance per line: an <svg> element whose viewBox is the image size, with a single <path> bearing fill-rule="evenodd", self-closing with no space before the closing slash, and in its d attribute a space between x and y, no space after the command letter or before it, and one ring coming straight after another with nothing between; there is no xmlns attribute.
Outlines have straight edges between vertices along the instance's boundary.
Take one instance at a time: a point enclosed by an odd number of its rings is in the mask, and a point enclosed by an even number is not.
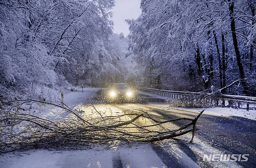
<svg viewBox="0 0 256 168"><path fill-rule="evenodd" d="M182 98L189 94L200 95L200 93L198 92L169 91L169 90L153 89L153 88L146 88L146 87L136 87L136 89L146 93L156 94L158 96L164 96L164 97L169 97L174 99ZM246 104L247 111L249 111L250 104L256 104L256 97L252 97L252 96L237 96L237 95L222 94L219 97L219 100L222 101L221 104L224 107L230 107L231 101L237 101L237 108L241 108L242 107L241 105L244 103ZM225 105L225 100L228 101L228 105Z"/></svg>

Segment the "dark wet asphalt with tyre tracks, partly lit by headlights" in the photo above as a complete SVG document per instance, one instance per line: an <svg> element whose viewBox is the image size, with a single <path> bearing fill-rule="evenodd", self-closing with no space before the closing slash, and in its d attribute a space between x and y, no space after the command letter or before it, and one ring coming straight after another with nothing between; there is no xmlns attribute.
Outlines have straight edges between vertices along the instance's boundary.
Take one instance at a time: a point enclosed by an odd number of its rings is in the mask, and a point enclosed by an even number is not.
<svg viewBox="0 0 256 168"><path fill-rule="evenodd" d="M174 119L179 117L193 118L198 114L196 110L177 109L169 107L164 100L138 95L133 103L106 103L100 94L95 99L98 109L111 109L121 112L130 108L143 109L156 119ZM143 121L141 121L143 124ZM173 128L182 126L185 121L174 122ZM197 122L202 129L196 131L193 144L189 144L191 134L181 139L169 140L165 144L160 142L150 144L152 152L164 163L165 167L256 167L256 121L244 117L224 117L202 115ZM172 129L172 128L170 128ZM170 145L172 144L172 145ZM209 162L203 161L203 154L249 154L246 162ZM124 161L122 161L124 159ZM117 155L113 159L114 168L125 167L125 158Z"/></svg>

